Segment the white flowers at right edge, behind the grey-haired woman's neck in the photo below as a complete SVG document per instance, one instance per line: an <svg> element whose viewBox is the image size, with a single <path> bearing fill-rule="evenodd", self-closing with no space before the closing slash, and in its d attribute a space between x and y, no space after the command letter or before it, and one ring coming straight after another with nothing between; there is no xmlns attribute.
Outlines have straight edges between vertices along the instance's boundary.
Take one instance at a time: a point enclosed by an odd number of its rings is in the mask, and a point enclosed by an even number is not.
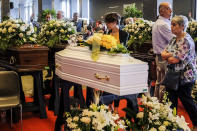
<svg viewBox="0 0 197 131"><path fill-rule="evenodd" d="M187 32L191 35L194 42L197 42L197 21L189 22Z"/></svg>

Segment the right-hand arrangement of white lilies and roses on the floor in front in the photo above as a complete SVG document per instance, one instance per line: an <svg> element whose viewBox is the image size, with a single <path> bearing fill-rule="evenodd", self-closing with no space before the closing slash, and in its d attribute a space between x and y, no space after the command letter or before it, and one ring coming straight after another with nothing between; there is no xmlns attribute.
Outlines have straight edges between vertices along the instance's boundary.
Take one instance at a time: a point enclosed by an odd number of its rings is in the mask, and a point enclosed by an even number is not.
<svg viewBox="0 0 197 131"><path fill-rule="evenodd" d="M127 124L134 131L190 131L183 116L176 115L176 110L170 108L171 103L160 103L156 97L142 96L140 111Z"/></svg>

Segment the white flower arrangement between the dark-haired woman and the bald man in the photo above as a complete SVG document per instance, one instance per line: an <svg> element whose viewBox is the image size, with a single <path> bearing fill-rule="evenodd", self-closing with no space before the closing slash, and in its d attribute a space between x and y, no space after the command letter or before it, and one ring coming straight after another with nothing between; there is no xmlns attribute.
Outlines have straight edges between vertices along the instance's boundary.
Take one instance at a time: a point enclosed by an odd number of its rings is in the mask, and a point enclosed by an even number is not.
<svg viewBox="0 0 197 131"><path fill-rule="evenodd" d="M128 47L132 46L136 50L145 41L151 41L152 25L153 22L143 19L138 19L134 23L126 25L123 30L130 34L130 39L127 42Z"/></svg>

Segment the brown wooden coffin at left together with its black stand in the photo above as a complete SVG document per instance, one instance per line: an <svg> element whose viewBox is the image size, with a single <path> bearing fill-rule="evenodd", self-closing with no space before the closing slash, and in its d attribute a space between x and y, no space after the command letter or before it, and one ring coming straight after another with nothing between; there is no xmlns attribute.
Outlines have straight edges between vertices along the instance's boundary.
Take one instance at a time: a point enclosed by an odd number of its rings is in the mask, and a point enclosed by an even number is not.
<svg viewBox="0 0 197 131"><path fill-rule="evenodd" d="M25 44L21 47L0 51L0 66L13 70L19 76L32 75L34 78L34 102L25 102L20 80L20 99L23 111L40 110L40 117L47 118L46 106L42 94L42 70L48 65L48 48L40 45ZM21 77L19 77L21 79Z"/></svg>

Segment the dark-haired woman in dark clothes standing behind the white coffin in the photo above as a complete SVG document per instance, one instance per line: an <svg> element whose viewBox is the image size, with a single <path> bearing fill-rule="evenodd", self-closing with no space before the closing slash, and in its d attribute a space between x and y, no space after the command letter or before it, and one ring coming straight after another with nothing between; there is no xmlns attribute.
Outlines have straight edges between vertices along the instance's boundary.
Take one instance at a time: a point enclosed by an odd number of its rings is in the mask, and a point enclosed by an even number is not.
<svg viewBox="0 0 197 131"><path fill-rule="evenodd" d="M105 23L108 29L107 33L114 36L118 40L119 43L126 46L129 34L119 28L120 15L115 12L106 14ZM114 101L114 108L115 108L114 111L118 113L120 99L126 99L127 107L132 109L135 112L138 111L137 94L117 96L111 93L104 92L100 99L100 102L101 104L110 105Z"/></svg>

